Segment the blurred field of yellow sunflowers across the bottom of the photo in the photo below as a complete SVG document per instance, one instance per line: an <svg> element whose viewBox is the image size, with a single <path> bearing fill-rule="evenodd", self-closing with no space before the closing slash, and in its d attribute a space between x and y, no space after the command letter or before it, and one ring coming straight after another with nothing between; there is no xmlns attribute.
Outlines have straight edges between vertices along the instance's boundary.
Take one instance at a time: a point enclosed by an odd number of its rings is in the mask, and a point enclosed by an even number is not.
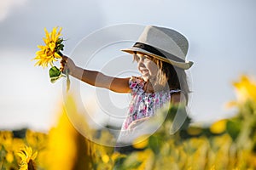
<svg viewBox="0 0 256 170"><path fill-rule="evenodd" d="M208 126L189 123L188 117L179 131L170 135L177 111L172 106L160 128L133 144L133 151L127 153L84 138L63 106L48 133L1 131L0 169L256 169L256 83L241 76L234 88L237 99L227 106L236 108L235 116ZM72 99L70 107L79 119ZM104 130L90 129L90 133L96 133L100 141L113 138Z"/></svg>

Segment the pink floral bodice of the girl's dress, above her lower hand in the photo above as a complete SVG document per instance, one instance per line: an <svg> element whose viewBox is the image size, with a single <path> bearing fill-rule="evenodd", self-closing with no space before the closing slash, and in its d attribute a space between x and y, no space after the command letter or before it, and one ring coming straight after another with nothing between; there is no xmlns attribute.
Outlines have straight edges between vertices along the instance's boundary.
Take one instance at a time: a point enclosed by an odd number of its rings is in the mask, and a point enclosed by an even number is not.
<svg viewBox="0 0 256 170"><path fill-rule="evenodd" d="M169 92L161 91L147 94L143 90L145 82L141 77L131 77L129 87L131 88L131 103L128 115L123 123L122 130L129 129L132 122L145 117L154 116L154 113L166 102L170 102L171 94L180 92L179 89Z"/></svg>

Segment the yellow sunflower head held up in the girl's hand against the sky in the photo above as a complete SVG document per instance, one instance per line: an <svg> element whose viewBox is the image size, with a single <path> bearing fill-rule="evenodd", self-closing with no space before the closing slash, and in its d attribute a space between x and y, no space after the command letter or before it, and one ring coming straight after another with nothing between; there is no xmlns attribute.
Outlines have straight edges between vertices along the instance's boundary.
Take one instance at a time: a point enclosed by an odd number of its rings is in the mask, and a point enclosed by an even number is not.
<svg viewBox="0 0 256 170"><path fill-rule="evenodd" d="M48 67L48 65L53 66L53 62L57 59L61 59L61 55L58 54L60 50L63 50L64 45L61 43L63 39L60 38L61 30L57 31L58 27L54 27L53 30L49 33L46 28L45 38L43 38L45 46L38 45L40 50L36 53L34 59L38 59L38 62L35 65Z"/></svg>

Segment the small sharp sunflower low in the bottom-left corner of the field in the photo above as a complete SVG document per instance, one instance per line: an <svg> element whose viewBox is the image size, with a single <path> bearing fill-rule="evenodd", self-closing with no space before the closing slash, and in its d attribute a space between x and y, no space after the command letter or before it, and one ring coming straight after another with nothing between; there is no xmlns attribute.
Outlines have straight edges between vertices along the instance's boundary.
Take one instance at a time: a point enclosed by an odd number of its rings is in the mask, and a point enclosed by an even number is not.
<svg viewBox="0 0 256 170"><path fill-rule="evenodd" d="M32 148L25 146L24 149L17 153L20 156L20 170L34 170L36 169L34 165L34 160L38 156L38 152L32 153Z"/></svg>

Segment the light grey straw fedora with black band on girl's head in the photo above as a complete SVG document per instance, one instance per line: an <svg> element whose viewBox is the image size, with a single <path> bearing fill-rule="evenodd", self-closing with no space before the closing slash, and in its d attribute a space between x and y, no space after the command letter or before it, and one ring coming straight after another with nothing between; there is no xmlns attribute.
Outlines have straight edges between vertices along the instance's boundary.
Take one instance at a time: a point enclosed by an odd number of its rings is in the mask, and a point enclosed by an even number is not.
<svg viewBox="0 0 256 170"><path fill-rule="evenodd" d="M148 54L179 68L189 69L193 62L186 61L188 48L188 40L179 32L164 27L146 26L133 47L121 50L130 54Z"/></svg>

